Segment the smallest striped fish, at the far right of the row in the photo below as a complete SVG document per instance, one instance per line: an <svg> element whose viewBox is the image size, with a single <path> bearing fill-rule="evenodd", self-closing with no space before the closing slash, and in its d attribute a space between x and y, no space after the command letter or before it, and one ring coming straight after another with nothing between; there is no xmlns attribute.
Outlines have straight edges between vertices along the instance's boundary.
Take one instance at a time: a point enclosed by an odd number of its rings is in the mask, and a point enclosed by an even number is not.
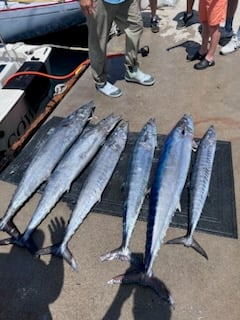
<svg viewBox="0 0 240 320"><path fill-rule="evenodd" d="M187 234L184 237L167 242L169 244L183 244L186 247L192 247L206 259L208 259L207 254L193 238L193 233L197 227L208 196L215 150L216 133L214 127L210 126L200 140L191 172L189 225Z"/></svg>

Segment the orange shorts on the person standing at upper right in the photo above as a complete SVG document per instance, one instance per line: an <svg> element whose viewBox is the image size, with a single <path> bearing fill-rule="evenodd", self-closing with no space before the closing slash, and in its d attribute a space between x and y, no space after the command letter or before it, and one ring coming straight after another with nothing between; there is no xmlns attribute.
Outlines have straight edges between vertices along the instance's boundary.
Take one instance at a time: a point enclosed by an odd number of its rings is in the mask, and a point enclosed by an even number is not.
<svg viewBox="0 0 240 320"><path fill-rule="evenodd" d="M226 15L227 0L199 0L199 20L201 22L216 26L226 20Z"/></svg>

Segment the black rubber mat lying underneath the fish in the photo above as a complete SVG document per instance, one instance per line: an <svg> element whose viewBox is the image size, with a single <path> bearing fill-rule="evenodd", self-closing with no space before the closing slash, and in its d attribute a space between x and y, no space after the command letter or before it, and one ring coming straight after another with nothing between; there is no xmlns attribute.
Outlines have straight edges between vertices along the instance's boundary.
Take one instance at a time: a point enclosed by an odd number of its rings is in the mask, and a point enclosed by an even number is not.
<svg viewBox="0 0 240 320"><path fill-rule="evenodd" d="M17 185L35 151L39 148L41 143L44 142L46 132L50 128L55 127L60 120L61 118L54 117L42 126L28 145L26 145L13 162L1 173L0 179ZM101 202L94 207L94 212L120 217L122 216L124 202L124 192L122 187L124 186L124 181L126 179L129 156L131 155L136 137L137 133L129 133L127 146L120 158L111 181L103 193ZM158 148L154 156L150 184L164 139L164 135L158 135ZM70 192L66 193L62 198L62 201L65 201L71 209L76 203L79 190L88 172L89 168L86 168L80 177L73 182ZM40 188L39 192L42 192L43 189L44 185ZM148 201L148 197L146 197L139 215L140 220L147 220ZM186 184L181 199L182 210L181 213L178 211L175 213L171 224L172 227L187 228L188 202L188 188ZM231 238L238 237L230 142L217 142L209 196L197 229Z"/></svg>

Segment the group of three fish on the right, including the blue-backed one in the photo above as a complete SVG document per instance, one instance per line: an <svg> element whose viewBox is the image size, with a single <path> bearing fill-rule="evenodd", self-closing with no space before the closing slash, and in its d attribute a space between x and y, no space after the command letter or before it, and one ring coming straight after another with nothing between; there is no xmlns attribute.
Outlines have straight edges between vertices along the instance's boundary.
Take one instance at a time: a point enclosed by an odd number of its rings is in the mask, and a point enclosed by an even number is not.
<svg viewBox="0 0 240 320"><path fill-rule="evenodd" d="M184 115L166 138L159 158L149 198L145 258L143 263L135 261L129 250L130 238L146 194L150 164L156 147L156 125L150 120L140 132L135 143L129 176L127 196L123 211L123 236L120 248L101 257L106 260L129 260L137 266L134 272L114 277L109 283L137 283L151 287L170 305L173 299L169 290L153 276L153 263L163 243L166 231L176 209L180 208L182 190L189 172L194 143L194 126L191 116ZM189 226L186 236L168 241L193 247L205 258L206 252L193 239L208 195L210 177L216 149L216 133L213 126L206 131L197 148L196 159L191 170Z"/></svg>

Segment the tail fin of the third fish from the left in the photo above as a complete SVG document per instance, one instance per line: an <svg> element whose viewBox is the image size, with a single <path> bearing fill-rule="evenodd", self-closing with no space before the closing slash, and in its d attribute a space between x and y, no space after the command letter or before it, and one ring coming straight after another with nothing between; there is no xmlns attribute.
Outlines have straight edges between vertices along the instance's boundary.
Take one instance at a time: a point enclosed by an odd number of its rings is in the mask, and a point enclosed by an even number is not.
<svg viewBox="0 0 240 320"><path fill-rule="evenodd" d="M67 246L62 246L62 243L54 244L52 246L42 248L36 252L36 255L47 255L52 254L56 257L63 258L72 268L74 271L78 271L78 267L76 264L75 259L71 251L68 249Z"/></svg>

